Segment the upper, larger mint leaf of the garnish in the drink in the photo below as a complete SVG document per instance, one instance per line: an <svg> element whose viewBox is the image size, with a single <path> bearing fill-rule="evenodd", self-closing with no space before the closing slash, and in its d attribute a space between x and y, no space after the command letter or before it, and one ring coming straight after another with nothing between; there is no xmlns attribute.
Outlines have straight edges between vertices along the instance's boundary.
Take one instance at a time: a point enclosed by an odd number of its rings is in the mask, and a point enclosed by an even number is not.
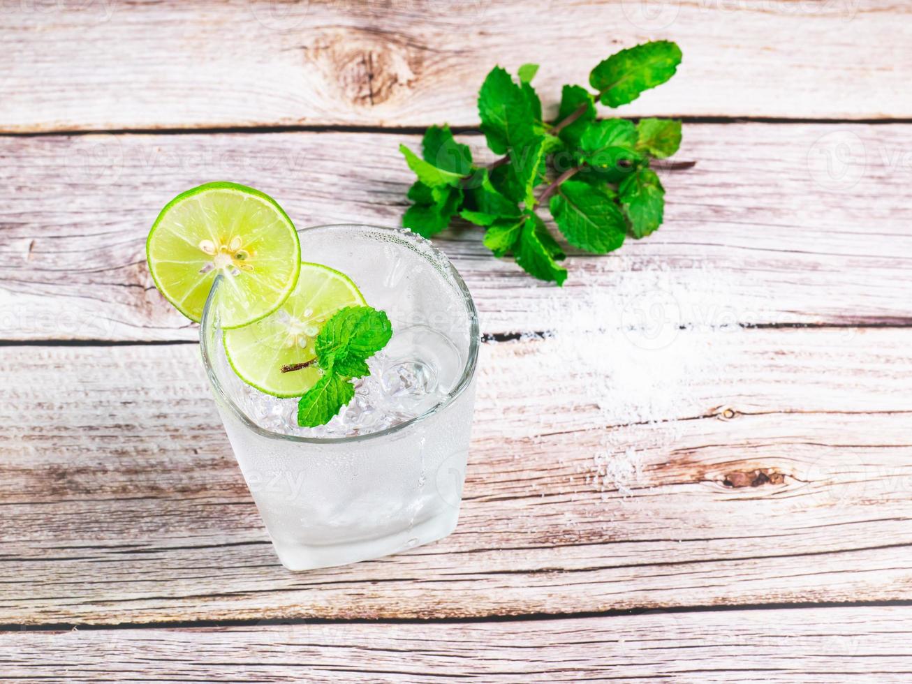
<svg viewBox="0 0 912 684"><path fill-rule="evenodd" d="M316 358L320 368L347 378L359 378L362 364L386 346L392 337L387 315L370 306L340 309L320 328L316 336Z"/></svg>

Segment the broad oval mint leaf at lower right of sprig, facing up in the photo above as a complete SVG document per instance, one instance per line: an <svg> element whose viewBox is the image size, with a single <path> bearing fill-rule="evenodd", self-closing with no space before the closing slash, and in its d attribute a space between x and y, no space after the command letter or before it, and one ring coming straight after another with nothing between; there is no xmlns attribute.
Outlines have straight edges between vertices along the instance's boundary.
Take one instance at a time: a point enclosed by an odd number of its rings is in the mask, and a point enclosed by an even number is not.
<svg viewBox="0 0 912 684"><path fill-rule="evenodd" d="M608 192L583 181L565 181L551 198L551 214L567 242L594 254L624 243L627 222Z"/></svg>

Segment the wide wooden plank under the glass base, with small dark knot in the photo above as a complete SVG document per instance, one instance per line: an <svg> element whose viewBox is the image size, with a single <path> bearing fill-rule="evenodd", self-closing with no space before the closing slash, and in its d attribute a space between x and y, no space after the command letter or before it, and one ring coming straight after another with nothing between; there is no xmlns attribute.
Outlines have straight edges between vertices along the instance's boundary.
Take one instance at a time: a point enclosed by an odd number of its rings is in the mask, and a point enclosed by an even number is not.
<svg viewBox="0 0 912 684"><path fill-rule="evenodd" d="M275 559L195 347L5 347L0 624L908 600L908 342L484 345L456 533L301 574Z"/></svg>

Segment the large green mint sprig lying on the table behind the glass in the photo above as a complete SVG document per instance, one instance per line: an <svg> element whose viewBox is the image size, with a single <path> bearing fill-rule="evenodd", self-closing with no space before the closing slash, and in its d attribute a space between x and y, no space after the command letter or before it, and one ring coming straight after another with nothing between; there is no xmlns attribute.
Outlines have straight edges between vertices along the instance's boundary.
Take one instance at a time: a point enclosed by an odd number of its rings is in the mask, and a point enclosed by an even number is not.
<svg viewBox="0 0 912 684"><path fill-rule="evenodd" d="M568 244L593 254L653 233L662 223L665 191L649 163L679 149L681 123L600 121L596 102L627 104L671 78L680 61L679 47L664 40L621 50L590 73L596 92L564 86L550 123L532 86L538 65L519 67L518 79L494 67L482 83L478 111L488 147L503 156L475 164L447 126L427 130L421 157L400 146L418 176L402 224L431 237L459 216L485 229L483 243L494 256L512 255L526 272L557 285L567 275L558 264L565 254L535 213L539 204Z"/></svg>

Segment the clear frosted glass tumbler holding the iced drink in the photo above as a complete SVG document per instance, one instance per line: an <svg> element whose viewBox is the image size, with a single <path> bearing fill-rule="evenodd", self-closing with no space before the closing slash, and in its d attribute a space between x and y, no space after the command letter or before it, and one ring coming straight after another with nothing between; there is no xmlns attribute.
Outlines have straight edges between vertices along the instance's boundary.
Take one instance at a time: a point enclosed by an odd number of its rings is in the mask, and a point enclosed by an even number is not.
<svg viewBox="0 0 912 684"><path fill-rule="evenodd" d="M446 256L414 233L327 225L299 235L302 259L349 275L387 312L393 337L373 362L383 392L378 406L358 407L360 433L302 436L289 424L295 399L268 397L234 375L216 304L230 276L212 286L203 364L275 552L288 569L306 570L441 539L456 527L469 452L479 344L472 296ZM364 429L363 411L375 412L378 431ZM339 420L327 434L345 430Z"/></svg>

